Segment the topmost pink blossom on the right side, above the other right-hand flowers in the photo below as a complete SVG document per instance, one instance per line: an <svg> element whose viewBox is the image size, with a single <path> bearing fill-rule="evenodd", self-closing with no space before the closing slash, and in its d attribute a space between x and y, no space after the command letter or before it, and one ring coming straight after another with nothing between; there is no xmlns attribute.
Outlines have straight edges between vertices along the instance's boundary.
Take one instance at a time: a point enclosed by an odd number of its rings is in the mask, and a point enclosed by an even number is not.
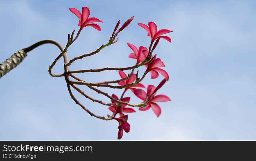
<svg viewBox="0 0 256 161"><path fill-rule="evenodd" d="M150 21L148 23L148 26L143 24L143 23L138 23L139 26L141 26L142 28L144 28L145 30L147 30L147 36L151 36L152 41L158 39L158 38L163 38L169 42L171 42L172 40L170 39L170 37L168 36L161 36L163 34L169 33L169 32L173 32L171 30L167 30L167 29L161 29L159 31L157 31L157 25Z"/></svg>

